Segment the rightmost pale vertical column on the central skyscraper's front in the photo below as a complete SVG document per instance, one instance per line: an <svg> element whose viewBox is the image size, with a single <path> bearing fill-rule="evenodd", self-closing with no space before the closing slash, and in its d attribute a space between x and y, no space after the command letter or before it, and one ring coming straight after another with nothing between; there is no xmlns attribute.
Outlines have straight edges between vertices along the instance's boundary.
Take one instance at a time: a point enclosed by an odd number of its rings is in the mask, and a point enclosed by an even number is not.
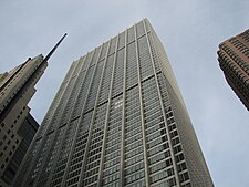
<svg viewBox="0 0 249 187"><path fill-rule="evenodd" d="M151 55L151 58L153 60L152 49L151 49L152 46L151 46L151 43L149 43L149 40L148 40L148 32L147 32L147 28L145 25L145 20L143 20L143 23L144 23L144 28L145 28L146 40L147 40L147 43L148 43L148 46L149 46L148 48L149 49L149 55ZM152 33L152 31L151 31L151 33ZM157 79L156 69L155 69L155 64L154 63L155 62L153 61L152 64L153 64L153 71L154 71L154 74L155 74L157 93L158 93L158 97L159 97L159 103L160 103L164 121L165 121L165 124L167 124L167 118L166 118L166 114L165 114L165 108L164 108L163 98L162 98L162 95L160 95L160 89L159 89L158 79ZM173 150L173 144L172 144L170 134L169 134L169 129L168 129L168 125L165 125L165 127L166 127L166 134L167 134L167 137L168 137L169 150L170 150L170 155L172 155L172 159L173 159L173 167L174 167L174 173L175 173L175 177L176 177L176 185L178 187L180 187L178 172L177 172L177 166L176 166L176 160L175 160L174 150Z"/></svg>

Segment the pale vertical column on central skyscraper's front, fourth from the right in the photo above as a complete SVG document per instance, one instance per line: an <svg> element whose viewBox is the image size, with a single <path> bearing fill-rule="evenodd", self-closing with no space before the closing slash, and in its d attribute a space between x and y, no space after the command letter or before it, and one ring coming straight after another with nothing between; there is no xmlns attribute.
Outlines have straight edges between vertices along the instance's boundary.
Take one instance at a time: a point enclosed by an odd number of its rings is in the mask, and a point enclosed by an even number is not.
<svg viewBox="0 0 249 187"><path fill-rule="evenodd" d="M112 101L112 90L113 90L113 82L114 82L113 80L114 80L114 71L115 71L115 63L116 63L116 56L117 56L118 40L120 40L120 34L117 35L117 39L116 39L116 48L115 48L115 54L114 54L115 56L113 61L113 70L112 70L111 85L110 85L110 92L108 92L108 102L107 102L107 108L106 108L106 118L105 118L105 125L104 125L104 137L103 137L103 144L102 144L101 163L100 163L100 170L98 170L98 178L97 178L97 187L102 186L103 165L104 165L105 145L106 145L106 136L107 136L107 124L108 124L108 116L110 116L110 108L111 108L111 101Z"/></svg>

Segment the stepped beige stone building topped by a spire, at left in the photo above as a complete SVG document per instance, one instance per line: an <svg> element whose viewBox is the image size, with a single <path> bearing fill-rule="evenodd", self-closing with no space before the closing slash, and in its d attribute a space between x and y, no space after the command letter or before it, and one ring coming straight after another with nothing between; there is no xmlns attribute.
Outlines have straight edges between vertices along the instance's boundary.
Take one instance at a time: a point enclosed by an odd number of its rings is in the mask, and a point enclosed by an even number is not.
<svg viewBox="0 0 249 187"><path fill-rule="evenodd" d="M58 45L55 45L56 48ZM0 186L9 186L39 127L29 101L44 73L48 60L40 54L0 75Z"/></svg>

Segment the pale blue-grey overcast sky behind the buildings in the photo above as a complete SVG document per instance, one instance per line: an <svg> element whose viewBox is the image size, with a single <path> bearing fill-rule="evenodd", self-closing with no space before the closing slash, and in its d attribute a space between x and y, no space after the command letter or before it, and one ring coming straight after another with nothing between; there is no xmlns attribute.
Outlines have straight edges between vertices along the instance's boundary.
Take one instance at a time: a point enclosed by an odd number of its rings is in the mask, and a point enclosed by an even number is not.
<svg viewBox="0 0 249 187"><path fill-rule="evenodd" d="M69 33L30 102L41 122L71 62L143 18L166 49L216 187L249 187L249 113L216 53L249 29L249 0L1 0L0 72Z"/></svg>

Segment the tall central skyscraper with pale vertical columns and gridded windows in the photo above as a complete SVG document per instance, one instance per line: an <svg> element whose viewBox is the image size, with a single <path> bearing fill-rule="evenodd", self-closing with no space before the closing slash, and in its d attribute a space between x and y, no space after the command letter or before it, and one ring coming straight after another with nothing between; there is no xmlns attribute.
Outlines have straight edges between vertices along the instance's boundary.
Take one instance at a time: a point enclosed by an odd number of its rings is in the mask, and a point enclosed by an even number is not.
<svg viewBox="0 0 249 187"><path fill-rule="evenodd" d="M28 186L214 186L147 19L72 63L14 180Z"/></svg>

